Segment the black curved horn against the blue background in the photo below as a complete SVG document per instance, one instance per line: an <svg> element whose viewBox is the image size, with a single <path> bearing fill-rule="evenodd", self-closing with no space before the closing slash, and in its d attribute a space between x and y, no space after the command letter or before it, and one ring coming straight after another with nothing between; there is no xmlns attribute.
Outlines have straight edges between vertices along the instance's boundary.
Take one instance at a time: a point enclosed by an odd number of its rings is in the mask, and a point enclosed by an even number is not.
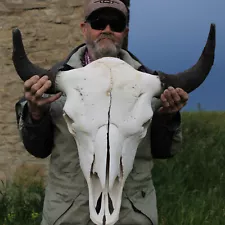
<svg viewBox="0 0 225 225"><path fill-rule="evenodd" d="M173 74L166 74L161 71L158 72L159 78L164 85L164 88L172 86L174 88L182 88L187 93L192 92L198 88L209 74L215 57L216 46L216 28L215 24L211 24L207 43L202 51L198 62L190 69Z"/></svg>

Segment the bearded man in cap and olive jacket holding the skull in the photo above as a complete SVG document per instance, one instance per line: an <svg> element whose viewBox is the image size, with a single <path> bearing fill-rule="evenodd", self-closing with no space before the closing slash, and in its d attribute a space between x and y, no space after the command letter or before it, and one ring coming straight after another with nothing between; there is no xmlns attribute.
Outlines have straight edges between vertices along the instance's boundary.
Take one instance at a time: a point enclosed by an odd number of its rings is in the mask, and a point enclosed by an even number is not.
<svg viewBox="0 0 225 225"><path fill-rule="evenodd" d="M85 44L52 70L86 66L106 56L119 57L135 69L150 71L131 53L122 50L128 34L127 8L119 0L90 1L81 30ZM24 83L25 100L16 105L19 130L26 149L34 156L50 156L42 225L91 225L87 184L79 166L76 143L62 116L65 96L46 97L51 87L47 76L32 76ZM140 144L134 168L127 178L118 225L157 225L156 195L151 179L152 158L167 158L180 149L180 113L188 100L182 89L169 87L161 95L162 107Z"/></svg>

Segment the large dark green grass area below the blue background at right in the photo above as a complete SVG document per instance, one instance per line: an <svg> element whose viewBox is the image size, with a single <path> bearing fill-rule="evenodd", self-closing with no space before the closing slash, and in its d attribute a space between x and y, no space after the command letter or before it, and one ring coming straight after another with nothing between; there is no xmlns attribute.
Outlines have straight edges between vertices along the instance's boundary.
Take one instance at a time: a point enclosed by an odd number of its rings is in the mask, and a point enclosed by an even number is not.
<svg viewBox="0 0 225 225"><path fill-rule="evenodd" d="M156 160L160 225L225 224L225 112L183 113L183 149Z"/></svg>

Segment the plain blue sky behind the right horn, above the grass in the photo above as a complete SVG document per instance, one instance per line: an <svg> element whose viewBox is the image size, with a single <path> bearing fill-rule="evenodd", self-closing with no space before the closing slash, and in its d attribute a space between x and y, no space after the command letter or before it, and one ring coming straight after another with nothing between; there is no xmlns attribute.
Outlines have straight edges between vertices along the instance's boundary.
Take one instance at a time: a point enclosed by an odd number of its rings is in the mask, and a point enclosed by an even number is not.
<svg viewBox="0 0 225 225"><path fill-rule="evenodd" d="M215 61L184 111L225 111L225 0L131 0L128 49L153 70L190 68L216 24Z"/></svg>

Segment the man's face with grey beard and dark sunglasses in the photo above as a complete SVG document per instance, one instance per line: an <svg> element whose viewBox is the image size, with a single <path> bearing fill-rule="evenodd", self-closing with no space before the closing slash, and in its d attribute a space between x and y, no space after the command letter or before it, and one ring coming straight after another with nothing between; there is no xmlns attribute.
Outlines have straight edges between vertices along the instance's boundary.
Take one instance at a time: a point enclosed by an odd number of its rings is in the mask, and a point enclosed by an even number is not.
<svg viewBox="0 0 225 225"><path fill-rule="evenodd" d="M81 24L88 50L94 60L116 57L128 33L125 18L117 11L104 9Z"/></svg>

